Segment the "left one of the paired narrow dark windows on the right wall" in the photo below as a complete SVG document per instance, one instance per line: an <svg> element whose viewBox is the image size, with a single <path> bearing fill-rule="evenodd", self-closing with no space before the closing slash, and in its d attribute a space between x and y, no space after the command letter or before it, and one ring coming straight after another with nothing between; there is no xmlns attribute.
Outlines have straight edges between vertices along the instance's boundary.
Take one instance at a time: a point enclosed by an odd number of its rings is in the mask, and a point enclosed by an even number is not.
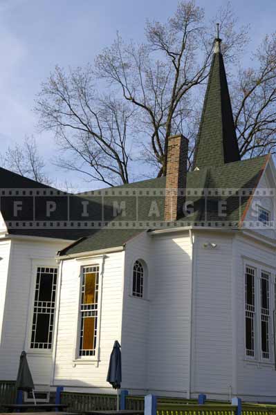
<svg viewBox="0 0 276 415"><path fill-rule="evenodd" d="M255 268L246 266L246 356L255 356Z"/></svg>

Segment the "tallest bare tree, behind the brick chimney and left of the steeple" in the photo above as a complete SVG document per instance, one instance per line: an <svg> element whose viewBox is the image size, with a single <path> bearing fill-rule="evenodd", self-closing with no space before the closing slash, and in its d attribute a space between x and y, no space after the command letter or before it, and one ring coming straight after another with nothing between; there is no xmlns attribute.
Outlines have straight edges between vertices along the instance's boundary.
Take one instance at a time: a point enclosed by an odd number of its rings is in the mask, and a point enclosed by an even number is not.
<svg viewBox="0 0 276 415"><path fill-rule="evenodd" d="M233 49L237 56L246 42L246 30L235 30L230 6L220 10L216 19L224 34L224 55L233 61ZM166 174L169 136L186 133L187 120L194 118L191 92L208 76L213 32L202 8L194 1L181 1L166 24L147 22L147 44L125 44L118 35L95 61L98 77L119 86L125 100L140 111L158 176Z"/></svg>

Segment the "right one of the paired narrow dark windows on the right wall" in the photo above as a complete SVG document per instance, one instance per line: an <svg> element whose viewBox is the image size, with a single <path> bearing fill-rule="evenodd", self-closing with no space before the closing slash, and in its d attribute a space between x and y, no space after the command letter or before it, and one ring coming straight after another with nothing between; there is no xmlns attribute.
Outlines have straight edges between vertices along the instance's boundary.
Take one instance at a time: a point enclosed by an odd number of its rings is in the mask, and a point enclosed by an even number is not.
<svg viewBox="0 0 276 415"><path fill-rule="evenodd" d="M261 271L261 356L269 359L269 274Z"/></svg>

